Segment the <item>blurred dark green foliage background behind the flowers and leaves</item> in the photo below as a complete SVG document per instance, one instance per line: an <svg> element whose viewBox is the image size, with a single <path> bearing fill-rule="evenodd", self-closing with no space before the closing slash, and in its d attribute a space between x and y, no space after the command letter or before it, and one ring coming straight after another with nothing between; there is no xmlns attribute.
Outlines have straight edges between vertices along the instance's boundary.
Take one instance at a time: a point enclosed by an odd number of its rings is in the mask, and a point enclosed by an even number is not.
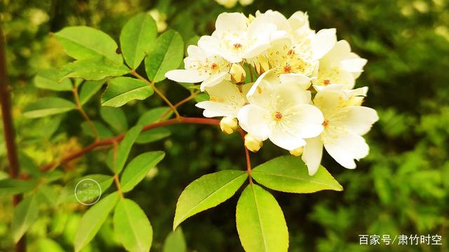
<svg viewBox="0 0 449 252"><path fill-rule="evenodd" d="M380 121L366 136L370 155L355 170L337 165L325 155L323 165L344 186L343 192L311 195L272 192L279 201L290 233L290 251L449 251L449 1L257 1L227 9L215 1L148 0L0 0L6 34L8 79L12 85L13 116L21 155L37 165L86 146L76 111L62 118L29 120L23 108L50 91L32 83L36 71L62 66L70 59L51 35L69 25L88 25L118 40L128 18L157 9L169 28L186 44L196 35L210 34L222 12L246 15L256 10L279 10L290 16L307 11L312 29L337 28L354 52L368 59L357 87L368 86L366 106ZM162 24L161 24L162 25ZM163 27L161 27L163 28ZM4 78L4 76L0 76ZM158 84L173 102L189 92L177 83ZM70 99L70 94L67 94ZM87 113L100 120L100 94ZM155 97L123 106L129 125L155 106ZM201 116L190 102L184 116ZM53 126L53 127L51 127ZM58 127L59 126L59 127ZM133 155L149 150L167 156L152 174L128 195L145 210L154 228L153 251L161 251L170 232L177 197L194 179L222 169L245 169L241 139L215 127L174 125L171 137L133 148ZM2 131L1 131L2 132ZM265 144L251 155L254 165L287 153ZM88 153L61 167L60 187L83 174L107 173L107 151ZM22 169L34 169L21 158ZM6 150L0 139L0 179L7 176ZM189 251L243 251L236 232L237 197L182 224ZM12 251L8 236L13 209L9 197L0 198L0 251ZM29 231L29 251L72 251L76 226L85 208L62 204L41 211ZM443 246L359 246L358 235L442 235ZM112 221L85 251L122 251Z"/></svg>

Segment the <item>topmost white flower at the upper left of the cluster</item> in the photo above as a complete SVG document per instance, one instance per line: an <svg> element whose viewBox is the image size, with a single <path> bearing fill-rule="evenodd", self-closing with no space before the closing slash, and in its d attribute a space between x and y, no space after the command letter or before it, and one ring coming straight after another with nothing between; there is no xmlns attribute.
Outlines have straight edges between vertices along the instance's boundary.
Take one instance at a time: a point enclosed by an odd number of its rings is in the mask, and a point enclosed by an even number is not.
<svg viewBox="0 0 449 252"><path fill-rule="evenodd" d="M270 34L276 26L257 19L249 22L242 13L222 13L215 22L211 36L202 36L201 48L208 48L231 63L239 63L260 55L269 47Z"/></svg>

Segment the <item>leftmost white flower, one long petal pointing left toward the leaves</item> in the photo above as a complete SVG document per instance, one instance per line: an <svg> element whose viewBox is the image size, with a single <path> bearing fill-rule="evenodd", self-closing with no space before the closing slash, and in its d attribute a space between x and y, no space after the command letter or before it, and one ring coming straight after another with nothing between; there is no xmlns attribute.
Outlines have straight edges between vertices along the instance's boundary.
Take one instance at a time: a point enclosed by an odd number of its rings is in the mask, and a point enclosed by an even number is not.
<svg viewBox="0 0 449 252"><path fill-rule="evenodd" d="M189 55L184 59L185 70L168 71L166 77L182 83L201 83L201 91L205 87L217 85L222 80L231 80L229 69L231 64L222 57L203 50L196 45L189 45Z"/></svg>

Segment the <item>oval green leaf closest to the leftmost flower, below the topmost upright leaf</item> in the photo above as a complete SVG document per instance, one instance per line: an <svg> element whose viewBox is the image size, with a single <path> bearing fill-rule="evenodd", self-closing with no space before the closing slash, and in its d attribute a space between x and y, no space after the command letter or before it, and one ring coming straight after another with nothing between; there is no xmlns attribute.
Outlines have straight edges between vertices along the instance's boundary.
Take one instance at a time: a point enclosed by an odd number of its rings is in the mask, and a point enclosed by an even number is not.
<svg viewBox="0 0 449 252"><path fill-rule="evenodd" d="M184 57L184 42L176 31L168 30L156 39L145 58L145 70L149 80L164 80L166 72L177 69Z"/></svg>

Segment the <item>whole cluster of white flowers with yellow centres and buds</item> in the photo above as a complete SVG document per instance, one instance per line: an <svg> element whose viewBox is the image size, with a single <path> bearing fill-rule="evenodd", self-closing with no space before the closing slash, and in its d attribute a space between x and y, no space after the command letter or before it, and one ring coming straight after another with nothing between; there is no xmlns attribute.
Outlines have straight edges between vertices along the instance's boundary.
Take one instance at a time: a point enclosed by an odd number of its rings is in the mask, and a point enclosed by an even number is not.
<svg viewBox="0 0 449 252"><path fill-rule="evenodd" d="M166 77L201 83L210 100L196 106L206 117L224 117L223 132L239 126L248 132L250 151L269 139L301 155L310 175L319 168L323 146L349 169L368 155L361 136L378 117L361 106L368 87L354 89L367 60L347 41L337 41L335 29L310 29L307 13L222 13L213 34L187 52L185 69Z"/></svg>

